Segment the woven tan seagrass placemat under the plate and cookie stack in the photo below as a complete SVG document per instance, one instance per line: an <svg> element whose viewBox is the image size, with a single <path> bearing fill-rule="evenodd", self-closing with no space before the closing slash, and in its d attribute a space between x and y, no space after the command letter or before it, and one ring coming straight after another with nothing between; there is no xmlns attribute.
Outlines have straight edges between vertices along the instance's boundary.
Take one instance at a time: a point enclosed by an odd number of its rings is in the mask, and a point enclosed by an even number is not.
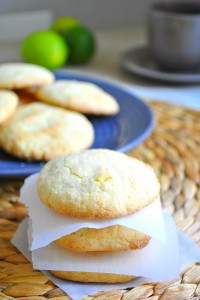
<svg viewBox="0 0 200 300"><path fill-rule="evenodd" d="M200 247L200 112L151 102L156 126L151 136L129 151L153 166L161 183L161 200L177 228ZM18 203L22 181L0 183L0 300L71 299L50 282L10 243L27 214ZM127 290L99 292L84 300L200 299L200 264L182 270L181 278ZM76 300L76 299L75 299Z"/></svg>

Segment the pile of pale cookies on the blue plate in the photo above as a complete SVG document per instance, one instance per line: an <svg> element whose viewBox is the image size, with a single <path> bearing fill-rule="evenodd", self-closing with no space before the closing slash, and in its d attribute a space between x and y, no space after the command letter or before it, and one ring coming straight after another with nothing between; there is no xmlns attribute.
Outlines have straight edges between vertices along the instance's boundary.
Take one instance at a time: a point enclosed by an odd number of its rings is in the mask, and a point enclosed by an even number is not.
<svg viewBox="0 0 200 300"><path fill-rule="evenodd" d="M84 114L119 111L96 85L55 81L52 72L31 64L0 65L0 89L0 145L20 159L48 161L89 148L94 129Z"/></svg>

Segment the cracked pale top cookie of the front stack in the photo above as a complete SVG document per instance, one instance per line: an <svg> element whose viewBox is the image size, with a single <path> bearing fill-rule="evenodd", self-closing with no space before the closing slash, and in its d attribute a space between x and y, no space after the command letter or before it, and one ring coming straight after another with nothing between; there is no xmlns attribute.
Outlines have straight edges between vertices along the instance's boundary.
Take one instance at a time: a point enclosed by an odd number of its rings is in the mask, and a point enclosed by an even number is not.
<svg viewBox="0 0 200 300"><path fill-rule="evenodd" d="M48 162L39 174L40 200L76 218L130 215L153 202L160 185L153 169L108 149L71 153Z"/></svg>

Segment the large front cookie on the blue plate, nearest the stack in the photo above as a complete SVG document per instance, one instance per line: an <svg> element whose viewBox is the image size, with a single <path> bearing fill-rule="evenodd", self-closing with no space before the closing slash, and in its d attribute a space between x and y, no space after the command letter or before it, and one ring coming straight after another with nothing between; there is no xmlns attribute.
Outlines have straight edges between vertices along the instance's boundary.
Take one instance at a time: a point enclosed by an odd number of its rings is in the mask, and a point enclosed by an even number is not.
<svg viewBox="0 0 200 300"><path fill-rule="evenodd" d="M42 103L20 106L0 127L0 143L8 153L27 160L50 160L90 147L94 129L79 113Z"/></svg>

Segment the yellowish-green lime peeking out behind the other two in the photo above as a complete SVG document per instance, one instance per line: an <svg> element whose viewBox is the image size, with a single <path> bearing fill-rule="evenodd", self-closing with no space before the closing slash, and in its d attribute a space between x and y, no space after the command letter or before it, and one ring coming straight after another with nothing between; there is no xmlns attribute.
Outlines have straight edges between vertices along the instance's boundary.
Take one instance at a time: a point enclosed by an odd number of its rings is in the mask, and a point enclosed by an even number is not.
<svg viewBox="0 0 200 300"><path fill-rule="evenodd" d="M79 22L76 19L72 17L61 17L52 23L51 30L62 35L66 30L75 26L79 26Z"/></svg>

